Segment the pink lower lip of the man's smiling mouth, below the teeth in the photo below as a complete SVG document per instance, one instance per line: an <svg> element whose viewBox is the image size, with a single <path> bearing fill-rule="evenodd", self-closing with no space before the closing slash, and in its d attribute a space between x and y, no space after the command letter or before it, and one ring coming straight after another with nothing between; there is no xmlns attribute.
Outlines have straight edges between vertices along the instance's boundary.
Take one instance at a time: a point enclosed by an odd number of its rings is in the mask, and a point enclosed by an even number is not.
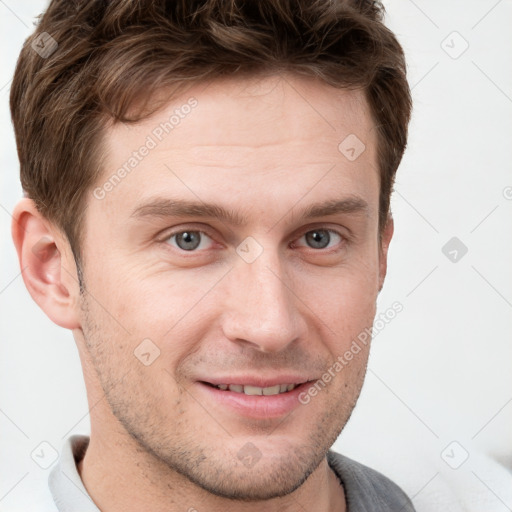
<svg viewBox="0 0 512 512"><path fill-rule="evenodd" d="M312 382L304 382L295 389L278 395L246 395L235 391L223 391L198 382L199 388L206 393L209 401L214 400L238 414L255 419L279 418L289 414L301 405L299 395L311 384Z"/></svg>

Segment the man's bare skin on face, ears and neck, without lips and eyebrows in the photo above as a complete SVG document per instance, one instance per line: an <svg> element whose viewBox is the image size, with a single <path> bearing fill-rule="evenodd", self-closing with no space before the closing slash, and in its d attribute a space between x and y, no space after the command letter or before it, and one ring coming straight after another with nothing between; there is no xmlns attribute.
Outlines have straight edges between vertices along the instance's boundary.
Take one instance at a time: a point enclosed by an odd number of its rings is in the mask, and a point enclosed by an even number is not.
<svg viewBox="0 0 512 512"><path fill-rule="evenodd" d="M82 480L108 512L343 511L325 455L359 396L367 348L278 418L238 414L198 381L284 372L315 381L371 327L393 223L379 244L366 101L286 75L196 85L150 118L106 130L97 185L192 96L196 108L130 174L103 199L89 193L82 294L66 237L30 199L14 212L26 286L73 331L80 353L91 418ZM354 161L338 150L349 134L366 146ZM246 223L132 215L156 197L215 203ZM346 198L367 206L300 218L312 204ZM315 229L338 235L311 247L305 235ZM207 236L185 251L171 237L180 230ZM263 249L252 263L236 252L249 236ZM134 350L148 338L160 355L146 366ZM238 457L247 443L261 454L251 467Z"/></svg>

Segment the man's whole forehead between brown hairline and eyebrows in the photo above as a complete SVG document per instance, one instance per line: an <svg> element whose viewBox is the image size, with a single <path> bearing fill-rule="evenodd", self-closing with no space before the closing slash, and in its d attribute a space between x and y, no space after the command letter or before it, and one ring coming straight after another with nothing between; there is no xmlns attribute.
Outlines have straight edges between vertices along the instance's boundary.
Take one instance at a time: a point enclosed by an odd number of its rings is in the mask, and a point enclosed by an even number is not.
<svg viewBox="0 0 512 512"><path fill-rule="evenodd" d="M106 210L165 193L238 197L244 209L262 195L285 202L285 191L296 200L306 188L378 196L376 132L363 91L313 79L197 84L141 122L108 128L105 150L96 186L108 189Z"/></svg>

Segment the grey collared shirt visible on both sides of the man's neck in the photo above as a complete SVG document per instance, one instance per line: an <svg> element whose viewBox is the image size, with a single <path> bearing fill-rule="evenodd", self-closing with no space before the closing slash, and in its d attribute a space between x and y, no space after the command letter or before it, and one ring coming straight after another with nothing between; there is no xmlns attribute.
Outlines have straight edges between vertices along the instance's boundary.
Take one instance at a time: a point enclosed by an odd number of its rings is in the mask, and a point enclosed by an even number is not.
<svg viewBox="0 0 512 512"><path fill-rule="evenodd" d="M59 512L100 512L76 467L88 444L88 436L68 438L48 477ZM327 453L327 460L345 489L347 512L414 512L411 500L402 489L381 473L332 450Z"/></svg>

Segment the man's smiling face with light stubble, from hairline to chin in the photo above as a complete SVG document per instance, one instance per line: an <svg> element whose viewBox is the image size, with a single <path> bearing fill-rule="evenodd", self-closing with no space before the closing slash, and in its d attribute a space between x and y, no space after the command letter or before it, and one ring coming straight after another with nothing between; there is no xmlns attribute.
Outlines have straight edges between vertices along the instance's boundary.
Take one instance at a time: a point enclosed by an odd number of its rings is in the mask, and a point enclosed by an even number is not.
<svg viewBox="0 0 512 512"><path fill-rule="evenodd" d="M367 346L335 362L371 328L385 271L363 94L292 77L195 86L109 128L103 168L75 333L88 385L203 489L291 492L355 405Z"/></svg>

